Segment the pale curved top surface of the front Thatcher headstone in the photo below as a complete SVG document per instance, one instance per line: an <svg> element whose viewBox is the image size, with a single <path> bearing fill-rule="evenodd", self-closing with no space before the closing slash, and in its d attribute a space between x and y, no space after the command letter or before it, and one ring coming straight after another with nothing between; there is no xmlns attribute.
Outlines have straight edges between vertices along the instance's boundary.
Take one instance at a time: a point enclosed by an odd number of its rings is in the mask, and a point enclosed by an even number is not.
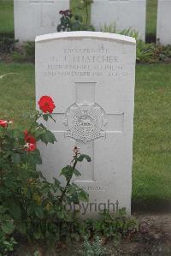
<svg viewBox="0 0 171 256"><path fill-rule="evenodd" d="M61 33L49 33L37 36L35 42L43 42L55 39L79 39L79 38L91 38L91 39L108 39L118 42L122 42L128 45L135 45L136 40L134 38L116 34L116 33L103 33L103 32L91 32L91 31L73 31L73 32L61 32Z"/></svg>

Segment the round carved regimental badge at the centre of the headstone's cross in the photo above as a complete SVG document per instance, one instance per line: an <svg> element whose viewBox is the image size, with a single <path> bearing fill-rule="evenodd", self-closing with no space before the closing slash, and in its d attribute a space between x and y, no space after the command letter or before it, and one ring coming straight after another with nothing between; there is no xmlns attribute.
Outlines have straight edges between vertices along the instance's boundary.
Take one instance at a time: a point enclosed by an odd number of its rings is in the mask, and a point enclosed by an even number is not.
<svg viewBox="0 0 171 256"><path fill-rule="evenodd" d="M105 112L98 104L72 104L65 116L67 126L65 137L86 143L99 137L105 137Z"/></svg>

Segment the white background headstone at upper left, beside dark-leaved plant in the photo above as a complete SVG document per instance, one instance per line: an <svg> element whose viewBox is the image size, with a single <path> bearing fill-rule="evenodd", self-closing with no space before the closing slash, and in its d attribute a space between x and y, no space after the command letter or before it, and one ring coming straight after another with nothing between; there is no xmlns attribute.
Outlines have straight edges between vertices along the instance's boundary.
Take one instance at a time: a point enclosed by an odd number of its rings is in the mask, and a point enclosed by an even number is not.
<svg viewBox="0 0 171 256"><path fill-rule="evenodd" d="M34 41L44 33L56 33L60 10L69 9L69 0L14 0L15 39Z"/></svg>

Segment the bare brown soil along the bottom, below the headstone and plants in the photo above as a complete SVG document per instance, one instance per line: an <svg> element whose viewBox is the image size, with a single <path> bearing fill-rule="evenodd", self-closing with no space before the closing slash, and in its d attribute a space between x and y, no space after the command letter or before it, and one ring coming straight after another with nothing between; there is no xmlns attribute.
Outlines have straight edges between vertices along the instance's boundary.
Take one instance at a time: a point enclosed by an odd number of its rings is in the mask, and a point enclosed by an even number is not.
<svg viewBox="0 0 171 256"><path fill-rule="evenodd" d="M103 246L107 248L104 255L110 256L171 256L171 213L167 214L134 214L139 220L140 230L129 235L127 239L116 243L105 241ZM74 242L71 245L62 244L55 252L43 247L21 246L18 253L12 256L32 256L37 250L38 256L80 256L82 244Z"/></svg>

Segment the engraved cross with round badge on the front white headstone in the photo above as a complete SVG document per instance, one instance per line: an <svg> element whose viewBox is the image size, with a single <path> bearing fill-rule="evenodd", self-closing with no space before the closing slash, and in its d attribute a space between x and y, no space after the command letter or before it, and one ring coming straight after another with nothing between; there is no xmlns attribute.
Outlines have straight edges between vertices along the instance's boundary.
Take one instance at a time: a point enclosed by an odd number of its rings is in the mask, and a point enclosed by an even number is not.
<svg viewBox="0 0 171 256"><path fill-rule="evenodd" d="M124 113L106 113L96 102L96 86L96 82L76 82L75 103L65 114L65 137L73 138L81 152L91 156L91 164L81 164L81 178L75 182L96 182L96 140L105 140L108 134L123 132Z"/></svg>

